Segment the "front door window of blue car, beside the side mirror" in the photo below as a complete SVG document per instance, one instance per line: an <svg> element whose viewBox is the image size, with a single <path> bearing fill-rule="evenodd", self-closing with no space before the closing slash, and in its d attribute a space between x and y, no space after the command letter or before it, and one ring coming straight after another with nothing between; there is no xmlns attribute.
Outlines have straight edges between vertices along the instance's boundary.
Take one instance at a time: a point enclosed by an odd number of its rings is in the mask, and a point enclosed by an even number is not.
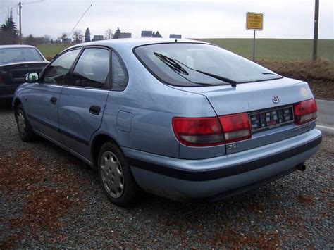
<svg viewBox="0 0 334 250"><path fill-rule="evenodd" d="M56 58L56 60L49 65L44 73L44 83L64 85L70 73L70 68L72 67L79 52L80 49L67 51Z"/></svg>

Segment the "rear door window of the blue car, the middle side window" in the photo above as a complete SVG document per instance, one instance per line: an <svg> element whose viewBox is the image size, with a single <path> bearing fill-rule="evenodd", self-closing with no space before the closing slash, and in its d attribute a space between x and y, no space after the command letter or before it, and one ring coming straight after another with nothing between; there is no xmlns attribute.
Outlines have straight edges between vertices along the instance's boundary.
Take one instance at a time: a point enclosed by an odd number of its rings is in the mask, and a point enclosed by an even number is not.
<svg viewBox="0 0 334 250"><path fill-rule="evenodd" d="M109 59L108 49L85 49L75 65L70 85L96 89L109 88Z"/></svg>

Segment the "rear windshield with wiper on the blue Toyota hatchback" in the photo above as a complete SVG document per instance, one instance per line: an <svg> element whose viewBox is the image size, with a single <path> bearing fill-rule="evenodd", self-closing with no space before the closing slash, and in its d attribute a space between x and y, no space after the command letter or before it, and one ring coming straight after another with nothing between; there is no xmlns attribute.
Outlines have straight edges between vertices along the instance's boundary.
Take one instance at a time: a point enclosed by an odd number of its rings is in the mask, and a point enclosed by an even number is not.
<svg viewBox="0 0 334 250"><path fill-rule="evenodd" d="M228 85L281 78L252 61L211 44L149 44L135 48L149 71L168 85Z"/></svg>

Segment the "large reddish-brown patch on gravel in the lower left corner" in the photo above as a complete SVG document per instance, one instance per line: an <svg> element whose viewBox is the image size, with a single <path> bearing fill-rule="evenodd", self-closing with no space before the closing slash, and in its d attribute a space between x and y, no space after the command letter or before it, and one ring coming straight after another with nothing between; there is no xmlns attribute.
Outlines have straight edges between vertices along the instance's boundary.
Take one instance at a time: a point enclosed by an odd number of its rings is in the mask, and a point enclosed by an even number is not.
<svg viewBox="0 0 334 250"><path fill-rule="evenodd" d="M56 232L64 215L85 204L78 192L78 178L60 165L49 168L33 157L36 155L34 151L18 151L1 157L0 188L9 197L22 194L24 205L20 215L8 219L12 234L0 243L0 249L15 247L27 234L38 239L41 230ZM59 182L61 186L52 187Z"/></svg>

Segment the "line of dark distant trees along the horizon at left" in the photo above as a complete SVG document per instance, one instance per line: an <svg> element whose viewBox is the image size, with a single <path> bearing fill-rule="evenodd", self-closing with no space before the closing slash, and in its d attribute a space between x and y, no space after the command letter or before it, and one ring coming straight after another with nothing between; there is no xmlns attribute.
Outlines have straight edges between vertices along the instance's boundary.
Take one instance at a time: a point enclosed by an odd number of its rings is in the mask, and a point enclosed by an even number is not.
<svg viewBox="0 0 334 250"><path fill-rule="evenodd" d="M121 36L120 28L117 27L116 32L113 32L110 28L104 32L104 39L118 39ZM152 37L162 37L159 31L153 32ZM22 39L23 44L37 45L37 44L80 44L82 42L91 42L91 32L89 27L85 30L85 34L82 34L81 30L75 30L73 34L67 34L63 32L58 39L51 39L49 35L43 37L35 37L30 34L26 37L20 37L16 23L13 21L13 13L10 12L4 24L0 27L0 44L18 44Z"/></svg>

